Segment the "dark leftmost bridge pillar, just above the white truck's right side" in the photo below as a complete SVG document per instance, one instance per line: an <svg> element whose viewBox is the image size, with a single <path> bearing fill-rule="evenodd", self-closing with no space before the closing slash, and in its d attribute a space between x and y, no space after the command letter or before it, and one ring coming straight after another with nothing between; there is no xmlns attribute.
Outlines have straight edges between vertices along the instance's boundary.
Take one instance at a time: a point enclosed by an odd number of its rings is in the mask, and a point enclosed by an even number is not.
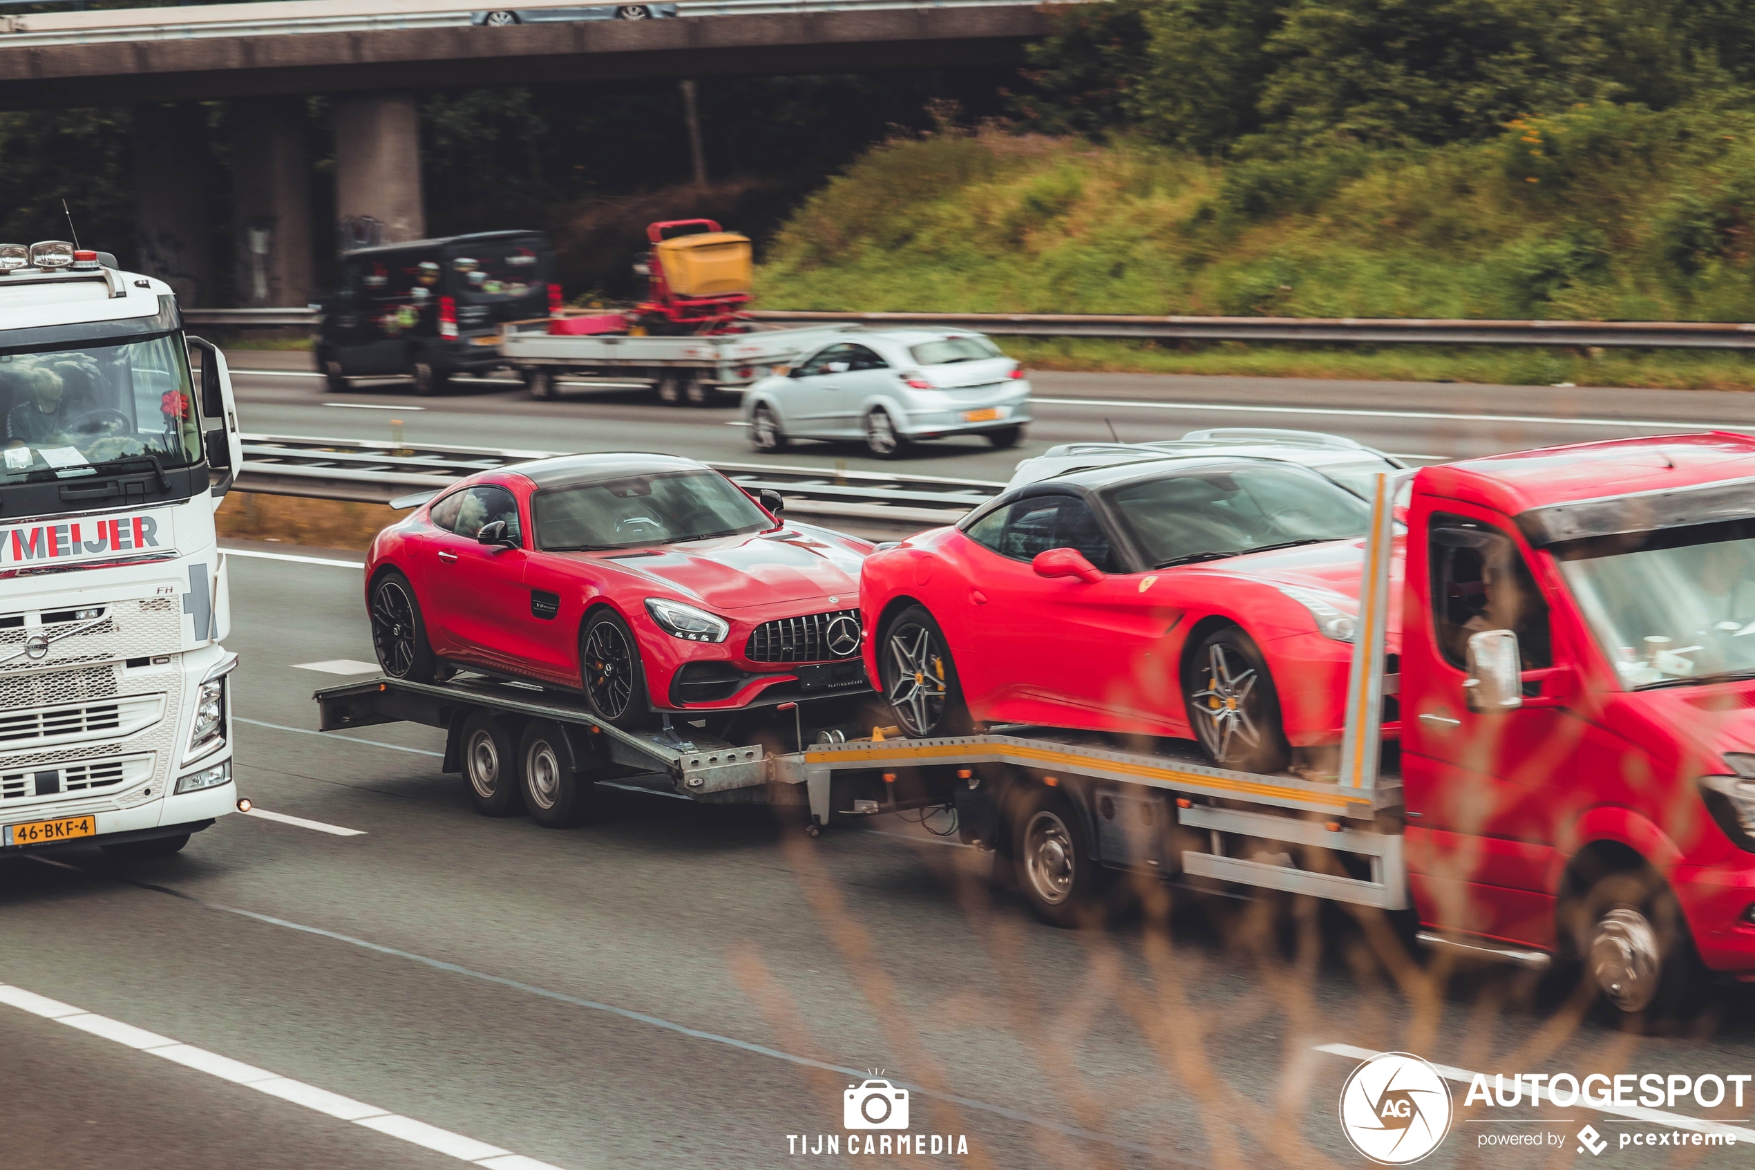
<svg viewBox="0 0 1755 1170"><path fill-rule="evenodd" d="M183 305L211 305L207 116L195 102L137 105L133 149L140 272L170 284Z"/></svg>

